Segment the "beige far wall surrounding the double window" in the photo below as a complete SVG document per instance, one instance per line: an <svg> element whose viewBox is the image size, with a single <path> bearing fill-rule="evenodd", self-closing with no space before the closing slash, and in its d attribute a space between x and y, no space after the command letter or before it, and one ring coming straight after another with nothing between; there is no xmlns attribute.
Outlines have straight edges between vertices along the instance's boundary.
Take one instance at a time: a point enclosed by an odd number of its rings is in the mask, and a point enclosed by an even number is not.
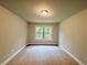
<svg viewBox="0 0 87 65"><path fill-rule="evenodd" d="M36 25L52 25L52 41L40 42L35 40L35 26ZM29 23L29 36L28 44L56 44L58 41L58 23Z"/></svg>

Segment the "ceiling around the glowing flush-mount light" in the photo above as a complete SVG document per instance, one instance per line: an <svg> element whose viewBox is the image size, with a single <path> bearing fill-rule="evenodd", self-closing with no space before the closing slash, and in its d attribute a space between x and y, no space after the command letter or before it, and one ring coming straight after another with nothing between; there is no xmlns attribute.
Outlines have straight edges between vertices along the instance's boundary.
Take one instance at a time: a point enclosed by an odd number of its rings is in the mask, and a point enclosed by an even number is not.
<svg viewBox="0 0 87 65"><path fill-rule="evenodd" d="M0 0L0 4L28 22L62 22L87 9L87 0ZM50 15L42 17L40 10L48 10Z"/></svg>

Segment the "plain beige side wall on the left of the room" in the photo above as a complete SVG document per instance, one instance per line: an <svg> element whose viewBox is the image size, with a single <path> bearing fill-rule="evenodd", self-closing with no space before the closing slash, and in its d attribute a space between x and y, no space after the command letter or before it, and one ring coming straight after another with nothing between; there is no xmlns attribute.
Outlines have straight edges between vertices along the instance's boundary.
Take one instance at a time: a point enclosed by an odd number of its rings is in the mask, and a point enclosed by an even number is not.
<svg viewBox="0 0 87 65"><path fill-rule="evenodd" d="M0 6L0 64L25 45L26 23Z"/></svg>

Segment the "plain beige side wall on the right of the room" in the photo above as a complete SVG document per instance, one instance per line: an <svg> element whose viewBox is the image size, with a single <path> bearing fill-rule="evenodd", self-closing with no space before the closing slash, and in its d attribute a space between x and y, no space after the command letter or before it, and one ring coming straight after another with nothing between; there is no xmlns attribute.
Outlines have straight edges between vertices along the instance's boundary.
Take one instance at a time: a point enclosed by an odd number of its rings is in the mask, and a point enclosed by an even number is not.
<svg viewBox="0 0 87 65"><path fill-rule="evenodd" d="M59 45L87 65L87 9L61 23Z"/></svg>

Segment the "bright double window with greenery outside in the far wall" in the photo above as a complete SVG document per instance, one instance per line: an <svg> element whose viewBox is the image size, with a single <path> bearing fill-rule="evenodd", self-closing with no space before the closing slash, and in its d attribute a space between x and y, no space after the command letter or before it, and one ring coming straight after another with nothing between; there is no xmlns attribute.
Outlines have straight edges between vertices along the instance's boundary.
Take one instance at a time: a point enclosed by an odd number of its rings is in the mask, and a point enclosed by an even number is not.
<svg viewBox="0 0 87 65"><path fill-rule="evenodd" d="M36 40L50 41L52 40L52 26L51 25L37 25L36 30Z"/></svg>

